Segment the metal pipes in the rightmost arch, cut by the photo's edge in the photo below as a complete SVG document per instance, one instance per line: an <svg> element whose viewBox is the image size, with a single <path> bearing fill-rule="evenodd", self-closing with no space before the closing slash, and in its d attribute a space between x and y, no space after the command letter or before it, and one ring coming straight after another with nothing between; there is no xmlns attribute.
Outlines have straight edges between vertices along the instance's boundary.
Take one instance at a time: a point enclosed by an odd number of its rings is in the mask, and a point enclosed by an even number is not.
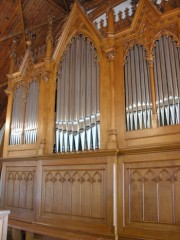
<svg viewBox="0 0 180 240"><path fill-rule="evenodd" d="M171 37L155 42L154 73L159 126L180 123L180 48Z"/></svg>

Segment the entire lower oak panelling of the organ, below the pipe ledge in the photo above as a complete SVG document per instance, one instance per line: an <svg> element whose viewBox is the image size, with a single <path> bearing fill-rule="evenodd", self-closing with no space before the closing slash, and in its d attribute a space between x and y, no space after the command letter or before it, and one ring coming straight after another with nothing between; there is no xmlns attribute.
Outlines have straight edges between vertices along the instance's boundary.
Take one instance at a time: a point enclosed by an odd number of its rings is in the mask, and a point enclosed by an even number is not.
<svg viewBox="0 0 180 240"><path fill-rule="evenodd" d="M117 213L119 239L179 240L180 151L119 155L117 188L115 159L4 161L1 207L11 210L10 225L64 239L112 239Z"/></svg>

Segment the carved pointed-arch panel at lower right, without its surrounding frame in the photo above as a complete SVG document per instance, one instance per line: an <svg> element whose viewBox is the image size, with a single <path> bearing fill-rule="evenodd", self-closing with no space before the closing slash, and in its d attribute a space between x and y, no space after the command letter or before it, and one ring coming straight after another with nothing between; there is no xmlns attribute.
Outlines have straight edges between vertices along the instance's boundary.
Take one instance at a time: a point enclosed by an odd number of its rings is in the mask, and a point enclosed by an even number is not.
<svg viewBox="0 0 180 240"><path fill-rule="evenodd" d="M127 222L180 225L180 165L130 164L125 185Z"/></svg>

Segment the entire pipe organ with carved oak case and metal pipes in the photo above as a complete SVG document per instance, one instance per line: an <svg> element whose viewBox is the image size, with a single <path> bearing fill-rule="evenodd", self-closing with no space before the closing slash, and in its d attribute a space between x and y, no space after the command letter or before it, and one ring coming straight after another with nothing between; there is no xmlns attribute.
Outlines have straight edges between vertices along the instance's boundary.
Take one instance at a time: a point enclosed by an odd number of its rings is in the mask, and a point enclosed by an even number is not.
<svg viewBox="0 0 180 240"><path fill-rule="evenodd" d="M49 19L43 61L29 42L14 73L12 61L0 197L10 226L179 240L180 15L174 0L165 13L155 2L132 1L125 25L111 5L102 34L100 10L90 19L74 1L56 46Z"/></svg>

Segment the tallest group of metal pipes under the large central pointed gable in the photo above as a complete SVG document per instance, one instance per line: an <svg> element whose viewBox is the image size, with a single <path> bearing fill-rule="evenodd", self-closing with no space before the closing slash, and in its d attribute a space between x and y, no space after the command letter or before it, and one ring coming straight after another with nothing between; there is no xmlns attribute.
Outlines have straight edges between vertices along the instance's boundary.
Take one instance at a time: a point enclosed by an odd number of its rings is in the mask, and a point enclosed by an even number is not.
<svg viewBox="0 0 180 240"><path fill-rule="evenodd" d="M93 43L74 37L57 75L56 152L100 146L99 64Z"/></svg>

